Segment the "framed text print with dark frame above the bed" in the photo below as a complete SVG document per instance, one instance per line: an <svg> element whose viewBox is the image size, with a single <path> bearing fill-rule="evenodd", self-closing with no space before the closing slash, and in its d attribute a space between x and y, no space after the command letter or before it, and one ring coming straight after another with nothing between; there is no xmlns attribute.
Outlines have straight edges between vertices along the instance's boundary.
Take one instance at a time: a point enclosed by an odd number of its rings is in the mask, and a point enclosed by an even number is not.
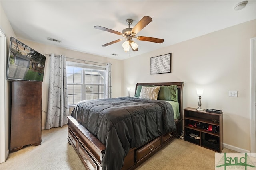
<svg viewBox="0 0 256 170"><path fill-rule="evenodd" d="M150 58L150 74L171 72L172 53Z"/></svg>

